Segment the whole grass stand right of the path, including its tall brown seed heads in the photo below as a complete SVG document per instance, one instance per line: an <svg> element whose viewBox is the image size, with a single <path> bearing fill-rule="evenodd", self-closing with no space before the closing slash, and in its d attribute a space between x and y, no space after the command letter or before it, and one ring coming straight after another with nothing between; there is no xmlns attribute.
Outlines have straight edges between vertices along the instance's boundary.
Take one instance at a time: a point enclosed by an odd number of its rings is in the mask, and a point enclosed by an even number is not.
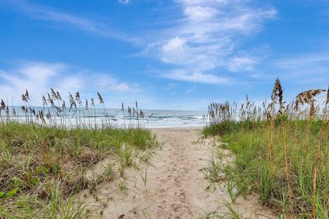
<svg viewBox="0 0 329 219"><path fill-rule="evenodd" d="M317 103L317 95L327 99ZM223 166L239 194L257 192L286 218L329 218L329 90L283 100L277 79L270 103L211 103L205 136L221 135L234 154Z"/></svg>

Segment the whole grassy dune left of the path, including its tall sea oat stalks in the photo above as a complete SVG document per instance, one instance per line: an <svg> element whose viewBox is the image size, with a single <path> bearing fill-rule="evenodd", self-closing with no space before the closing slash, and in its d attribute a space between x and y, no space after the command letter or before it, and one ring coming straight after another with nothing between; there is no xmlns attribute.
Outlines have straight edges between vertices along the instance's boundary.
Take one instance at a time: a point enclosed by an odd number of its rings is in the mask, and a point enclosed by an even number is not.
<svg viewBox="0 0 329 219"><path fill-rule="evenodd" d="M38 112L27 91L21 113L1 100L0 218L86 218L87 203L74 195L86 188L95 192L99 183L114 179L114 166L122 177L136 156L157 145L143 128L143 111L129 107L127 114L137 114L131 115L136 125L117 127L97 96L105 114L101 124L93 120L94 100L91 107L88 100L83 104L79 92L75 98L69 94L68 109L53 89L42 96L44 107ZM104 158L110 158L104 171L87 175Z"/></svg>

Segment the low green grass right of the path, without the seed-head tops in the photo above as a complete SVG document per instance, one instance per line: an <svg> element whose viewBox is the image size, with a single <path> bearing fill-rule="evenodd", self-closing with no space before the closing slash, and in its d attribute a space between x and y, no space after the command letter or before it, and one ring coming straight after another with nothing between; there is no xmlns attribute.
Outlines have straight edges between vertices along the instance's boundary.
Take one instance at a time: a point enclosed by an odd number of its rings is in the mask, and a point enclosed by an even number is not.
<svg viewBox="0 0 329 219"><path fill-rule="evenodd" d="M234 163L226 166L225 171L245 196L254 191L262 203L280 207L282 214L311 218L317 168L315 211L318 218L328 218L329 131L308 131L316 130L319 121L310 123L308 128L305 123L287 121L274 129L265 124L261 130L241 130L223 136L234 154ZM276 137L270 146L271 133ZM319 144L321 155L316 159Z"/></svg>

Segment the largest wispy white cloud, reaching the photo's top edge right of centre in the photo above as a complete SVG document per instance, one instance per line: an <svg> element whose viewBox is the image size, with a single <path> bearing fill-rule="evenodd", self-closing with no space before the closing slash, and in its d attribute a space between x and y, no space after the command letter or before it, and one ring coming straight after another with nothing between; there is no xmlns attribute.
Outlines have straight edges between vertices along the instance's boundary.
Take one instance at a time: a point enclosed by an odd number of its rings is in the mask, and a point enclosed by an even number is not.
<svg viewBox="0 0 329 219"><path fill-rule="evenodd" d="M230 71L250 71L260 58L241 57L241 40L263 28L263 23L276 16L273 8L253 8L249 1L176 0L181 18L168 29L160 29L147 45L144 54L158 58L173 70L190 73L168 78L191 81L191 74L221 78L217 68ZM248 51L243 51L248 53ZM171 72L173 72L173 70ZM162 77L164 75L162 74ZM196 81L196 80L194 80ZM200 82L203 80L200 80ZM221 83L215 79L214 83ZM201 82L201 83L204 83Z"/></svg>

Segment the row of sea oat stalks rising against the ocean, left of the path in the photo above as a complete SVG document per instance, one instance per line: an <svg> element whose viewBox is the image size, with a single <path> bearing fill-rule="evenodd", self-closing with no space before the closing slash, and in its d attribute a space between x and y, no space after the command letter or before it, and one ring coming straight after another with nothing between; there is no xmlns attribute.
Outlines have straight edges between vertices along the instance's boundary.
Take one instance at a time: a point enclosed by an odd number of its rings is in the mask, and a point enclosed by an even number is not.
<svg viewBox="0 0 329 219"><path fill-rule="evenodd" d="M46 95L42 95L42 107L33 107L30 101L29 92L22 94L23 104L21 107L8 105L1 99L0 123L17 122L27 124L38 124L44 127L62 128L104 128L116 127L117 118L108 114L105 102L101 94L97 92L100 108L96 108L93 98L83 101L80 92L67 96L67 99L60 92L50 89ZM143 127L145 113L138 109L136 101L134 107L121 107L123 118L128 118L130 123L120 124L123 127ZM149 116L151 117L151 115ZM101 120L99 120L101 118ZM124 120L126 122L126 120Z"/></svg>

